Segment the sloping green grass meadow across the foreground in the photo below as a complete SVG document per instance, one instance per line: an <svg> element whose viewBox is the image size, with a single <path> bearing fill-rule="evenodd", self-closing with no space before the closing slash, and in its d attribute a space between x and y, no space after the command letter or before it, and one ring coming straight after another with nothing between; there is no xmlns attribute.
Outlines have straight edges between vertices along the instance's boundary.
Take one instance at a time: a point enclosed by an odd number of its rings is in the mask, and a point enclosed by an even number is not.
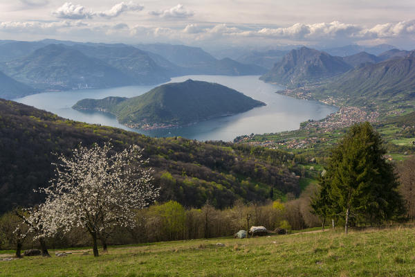
<svg viewBox="0 0 415 277"><path fill-rule="evenodd" d="M407 228L160 242L98 258L54 252L1 261L0 276L415 276L415 229Z"/></svg>

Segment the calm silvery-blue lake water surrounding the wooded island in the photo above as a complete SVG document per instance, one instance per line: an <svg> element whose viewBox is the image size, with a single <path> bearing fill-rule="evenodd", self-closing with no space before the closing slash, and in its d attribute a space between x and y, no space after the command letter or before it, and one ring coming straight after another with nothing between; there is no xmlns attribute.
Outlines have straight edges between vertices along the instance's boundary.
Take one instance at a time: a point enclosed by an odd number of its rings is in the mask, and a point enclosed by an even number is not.
<svg viewBox="0 0 415 277"><path fill-rule="evenodd" d="M217 82L236 89L256 100L266 103L234 116L223 116L196 123L188 127L142 130L131 129L118 123L115 116L99 111L76 111L71 107L84 98L105 98L107 96L133 97L146 93L153 86L117 87L112 89L81 89L78 91L58 91L37 93L15 99L38 109L45 109L58 116L86 123L96 123L128 129L148 136L183 136L188 139L233 141L244 134L264 134L282 132L299 128L299 123L308 119L319 120L335 112L338 108L324 105L317 101L299 100L282 96L275 91L283 89L275 84L259 80L259 76L225 76L225 75L187 75L172 78L170 82L183 82L187 79Z"/></svg>

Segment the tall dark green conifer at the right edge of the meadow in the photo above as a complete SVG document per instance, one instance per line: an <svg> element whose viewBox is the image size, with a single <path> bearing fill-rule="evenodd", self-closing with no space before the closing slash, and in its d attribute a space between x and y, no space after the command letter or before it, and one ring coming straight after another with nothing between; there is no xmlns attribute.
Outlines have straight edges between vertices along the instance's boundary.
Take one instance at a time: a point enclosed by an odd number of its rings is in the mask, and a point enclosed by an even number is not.
<svg viewBox="0 0 415 277"><path fill-rule="evenodd" d="M402 214L394 166L385 154L380 135L368 122L353 125L332 150L313 202L315 212L343 217L345 233L351 218L380 223Z"/></svg>

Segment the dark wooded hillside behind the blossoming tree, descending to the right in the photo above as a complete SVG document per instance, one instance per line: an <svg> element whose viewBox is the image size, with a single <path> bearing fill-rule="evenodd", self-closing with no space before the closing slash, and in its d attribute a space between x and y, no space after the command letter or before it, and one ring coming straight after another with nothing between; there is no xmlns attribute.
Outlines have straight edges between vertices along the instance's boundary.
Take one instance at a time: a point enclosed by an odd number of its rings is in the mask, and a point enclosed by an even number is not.
<svg viewBox="0 0 415 277"><path fill-rule="evenodd" d="M209 199L223 208L236 199L261 202L271 195L299 195L293 176L299 169L287 152L181 137L154 139L0 100L0 213L42 201L33 189L47 186L53 177L52 152L70 154L81 142L89 146L109 140L115 150L133 143L145 148L161 186L159 202L174 199L200 207Z"/></svg>

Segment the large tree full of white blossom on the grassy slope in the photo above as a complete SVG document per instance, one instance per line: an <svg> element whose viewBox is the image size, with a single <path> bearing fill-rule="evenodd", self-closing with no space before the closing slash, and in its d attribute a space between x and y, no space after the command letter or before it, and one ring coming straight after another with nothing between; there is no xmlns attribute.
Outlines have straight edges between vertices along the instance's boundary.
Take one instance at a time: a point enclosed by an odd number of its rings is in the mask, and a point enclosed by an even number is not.
<svg viewBox="0 0 415 277"><path fill-rule="evenodd" d="M80 145L71 158L60 155L57 175L43 189L48 230L84 228L93 240L95 257L97 239L113 226L136 226L134 211L154 202L159 192L137 145L115 154L112 148L110 143L90 149Z"/></svg>

